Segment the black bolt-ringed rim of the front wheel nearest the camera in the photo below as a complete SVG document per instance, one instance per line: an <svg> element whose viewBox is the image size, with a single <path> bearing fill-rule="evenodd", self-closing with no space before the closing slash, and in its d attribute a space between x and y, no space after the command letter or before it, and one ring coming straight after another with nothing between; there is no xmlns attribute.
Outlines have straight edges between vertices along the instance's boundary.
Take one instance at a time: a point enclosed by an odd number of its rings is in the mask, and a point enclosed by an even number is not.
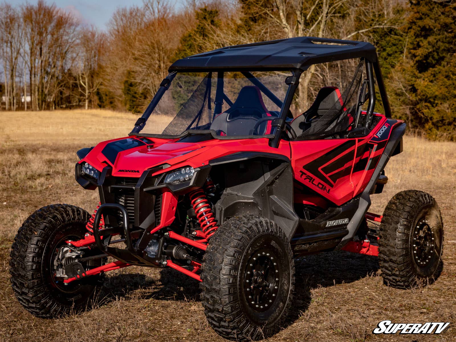
<svg viewBox="0 0 456 342"><path fill-rule="evenodd" d="M277 299L280 290L280 263L267 249L255 251L247 261L244 273L244 294L249 307L266 311Z"/></svg>

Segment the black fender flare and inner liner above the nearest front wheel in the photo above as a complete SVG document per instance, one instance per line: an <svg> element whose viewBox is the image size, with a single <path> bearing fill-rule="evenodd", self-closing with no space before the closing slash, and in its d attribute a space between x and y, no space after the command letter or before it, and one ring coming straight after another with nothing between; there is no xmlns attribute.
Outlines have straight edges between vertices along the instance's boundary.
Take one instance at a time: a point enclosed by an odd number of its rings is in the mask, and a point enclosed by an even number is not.
<svg viewBox="0 0 456 342"><path fill-rule="evenodd" d="M222 166L225 189L215 203L219 224L234 216L259 215L277 223L289 240L299 217L293 207L293 171L290 158L265 152L236 152L209 161Z"/></svg>

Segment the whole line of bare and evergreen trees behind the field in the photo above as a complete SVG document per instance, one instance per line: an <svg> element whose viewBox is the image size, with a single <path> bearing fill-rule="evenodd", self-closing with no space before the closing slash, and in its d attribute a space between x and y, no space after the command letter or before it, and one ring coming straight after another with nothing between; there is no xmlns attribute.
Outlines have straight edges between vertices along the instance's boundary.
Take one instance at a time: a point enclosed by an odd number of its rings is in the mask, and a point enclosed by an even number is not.
<svg viewBox="0 0 456 342"><path fill-rule="evenodd" d="M1 109L140 112L177 58L256 41L330 37L373 43L394 117L430 138L456 140L455 22L451 0L192 0L178 10L169 1L144 0L117 9L101 31L44 0L4 2ZM295 107L304 111L316 85L346 71L310 67Z"/></svg>

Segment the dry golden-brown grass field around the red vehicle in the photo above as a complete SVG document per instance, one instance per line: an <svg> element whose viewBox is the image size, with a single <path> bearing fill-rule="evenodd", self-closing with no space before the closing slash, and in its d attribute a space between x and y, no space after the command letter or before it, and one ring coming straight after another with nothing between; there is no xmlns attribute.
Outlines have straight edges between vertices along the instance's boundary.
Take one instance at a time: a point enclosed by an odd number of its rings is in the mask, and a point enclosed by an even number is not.
<svg viewBox="0 0 456 342"><path fill-rule="evenodd" d="M31 212L50 203L92 211L97 192L74 180L75 152L127 135L137 116L109 111L0 112L0 340L223 341L207 325L196 281L171 269L130 267L108 273L91 311L59 320L26 312L10 287L9 249ZM157 132L169 120L155 117ZM373 196L372 212L396 192L421 189L440 205L444 269L428 287L383 285L378 262L348 252L296 260L294 315L268 341L456 341L456 144L404 138L387 166L389 184ZM451 322L441 335L373 335L379 321Z"/></svg>

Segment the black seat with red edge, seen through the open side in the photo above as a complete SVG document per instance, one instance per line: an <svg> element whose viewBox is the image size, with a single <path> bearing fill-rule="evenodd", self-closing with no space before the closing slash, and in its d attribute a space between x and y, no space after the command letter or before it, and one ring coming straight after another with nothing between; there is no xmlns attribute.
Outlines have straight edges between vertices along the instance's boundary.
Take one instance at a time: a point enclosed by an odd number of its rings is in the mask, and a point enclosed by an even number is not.
<svg viewBox="0 0 456 342"><path fill-rule="evenodd" d="M318 91L315 101L301 115L295 117L290 123L291 128L295 130L296 135L301 135L308 130L312 123L306 123L306 118L321 118L337 102L342 101L341 92L337 87L323 87ZM342 103L341 103L342 104Z"/></svg>

